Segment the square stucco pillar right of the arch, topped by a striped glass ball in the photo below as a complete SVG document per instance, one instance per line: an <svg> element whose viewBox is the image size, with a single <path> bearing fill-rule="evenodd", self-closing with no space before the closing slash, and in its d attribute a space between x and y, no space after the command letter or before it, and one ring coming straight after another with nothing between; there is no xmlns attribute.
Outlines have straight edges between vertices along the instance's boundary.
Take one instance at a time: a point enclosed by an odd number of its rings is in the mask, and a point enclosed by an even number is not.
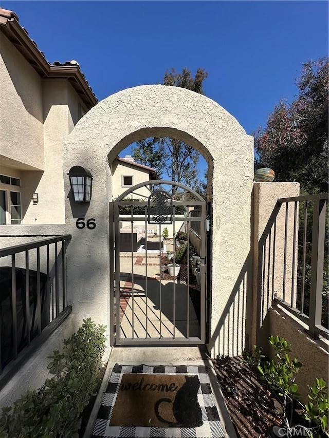
<svg viewBox="0 0 329 438"><path fill-rule="evenodd" d="M252 336L250 347L261 345L266 347L268 337L267 309L270 307L273 294L283 296L284 243L286 206L282 204L276 209L279 198L299 196L300 185L293 182L254 183L253 187L253 299L252 299ZM298 212L297 212L298 213ZM275 227L276 222L276 227ZM298 216L297 216L298 226ZM275 238L274 238L275 228ZM298 236L298 228L296 230ZM275 245L274 245L275 240ZM291 298L293 279L293 243L294 243L294 208L288 207L288 226L286 233L286 294ZM273 250L275 248L275 264L273 271ZM297 240L295 246L295 297L297 279Z"/></svg>

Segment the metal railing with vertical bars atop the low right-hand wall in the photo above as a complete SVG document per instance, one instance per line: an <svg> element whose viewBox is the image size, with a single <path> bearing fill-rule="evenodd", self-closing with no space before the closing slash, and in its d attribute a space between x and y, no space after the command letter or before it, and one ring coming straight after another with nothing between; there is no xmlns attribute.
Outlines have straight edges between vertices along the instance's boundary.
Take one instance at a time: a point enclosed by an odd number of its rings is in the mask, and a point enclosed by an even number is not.
<svg viewBox="0 0 329 438"><path fill-rule="evenodd" d="M276 215L271 251L273 298L303 321L315 338L321 335L329 339L328 194L278 199L277 214L282 205L285 206L282 288L274 286L278 252Z"/></svg>

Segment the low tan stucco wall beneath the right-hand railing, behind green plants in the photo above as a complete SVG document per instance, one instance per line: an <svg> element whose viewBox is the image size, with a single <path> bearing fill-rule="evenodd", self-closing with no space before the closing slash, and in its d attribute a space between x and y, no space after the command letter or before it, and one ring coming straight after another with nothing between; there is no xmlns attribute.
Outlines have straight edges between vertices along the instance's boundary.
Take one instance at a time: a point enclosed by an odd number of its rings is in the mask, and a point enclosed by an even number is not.
<svg viewBox="0 0 329 438"><path fill-rule="evenodd" d="M280 306L270 308L268 311L269 318L269 336L271 334L284 336L292 344L290 357L297 359L303 364L299 369L296 383L298 392L304 403L309 401L307 398L308 387L316 384L316 378L324 378L328 382L329 374L329 354L328 346L321 345L307 335L303 326L291 318ZM273 356L273 349L267 347L265 350Z"/></svg>

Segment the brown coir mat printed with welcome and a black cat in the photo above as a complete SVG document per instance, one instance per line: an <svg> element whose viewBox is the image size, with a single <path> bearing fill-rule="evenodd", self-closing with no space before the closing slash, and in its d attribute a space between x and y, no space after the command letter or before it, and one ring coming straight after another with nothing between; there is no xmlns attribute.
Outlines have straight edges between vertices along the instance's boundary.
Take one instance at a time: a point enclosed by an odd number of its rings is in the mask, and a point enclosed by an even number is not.
<svg viewBox="0 0 329 438"><path fill-rule="evenodd" d="M123 374L110 426L198 427L197 375Z"/></svg>

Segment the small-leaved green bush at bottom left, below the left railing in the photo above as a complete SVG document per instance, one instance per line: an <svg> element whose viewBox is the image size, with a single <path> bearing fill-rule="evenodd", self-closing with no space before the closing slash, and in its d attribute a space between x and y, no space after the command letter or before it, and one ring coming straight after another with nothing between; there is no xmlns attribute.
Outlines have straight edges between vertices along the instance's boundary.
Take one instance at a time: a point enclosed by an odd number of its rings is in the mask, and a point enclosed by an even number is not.
<svg viewBox="0 0 329 438"><path fill-rule="evenodd" d="M49 358L54 377L3 408L0 438L76 438L81 413L93 395L105 349L105 327L90 319Z"/></svg>

